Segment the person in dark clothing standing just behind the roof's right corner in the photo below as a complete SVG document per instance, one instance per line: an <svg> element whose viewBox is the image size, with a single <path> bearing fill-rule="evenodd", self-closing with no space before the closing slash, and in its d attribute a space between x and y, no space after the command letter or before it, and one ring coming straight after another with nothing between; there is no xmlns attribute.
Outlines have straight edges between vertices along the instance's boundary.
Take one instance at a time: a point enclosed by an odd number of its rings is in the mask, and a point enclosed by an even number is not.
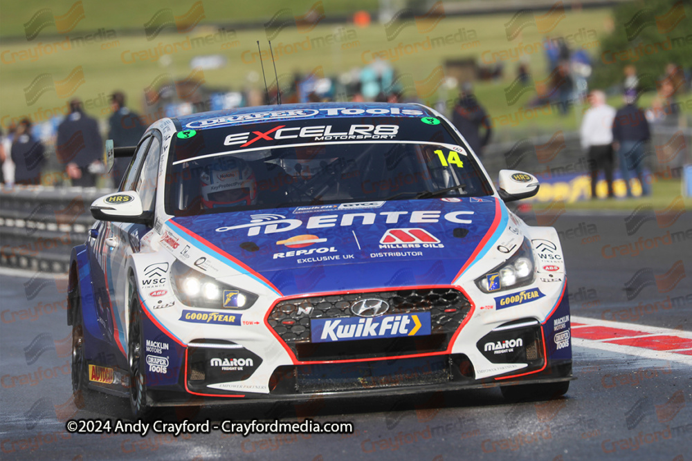
<svg viewBox="0 0 692 461"><path fill-rule="evenodd" d="M452 112L452 123L457 127L459 133L462 133L468 146L480 157L483 147L490 140L493 129L491 118L476 100L470 84L464 84L462 95ZM481 127L485 129L482 138L480 136Z"/></svg>

